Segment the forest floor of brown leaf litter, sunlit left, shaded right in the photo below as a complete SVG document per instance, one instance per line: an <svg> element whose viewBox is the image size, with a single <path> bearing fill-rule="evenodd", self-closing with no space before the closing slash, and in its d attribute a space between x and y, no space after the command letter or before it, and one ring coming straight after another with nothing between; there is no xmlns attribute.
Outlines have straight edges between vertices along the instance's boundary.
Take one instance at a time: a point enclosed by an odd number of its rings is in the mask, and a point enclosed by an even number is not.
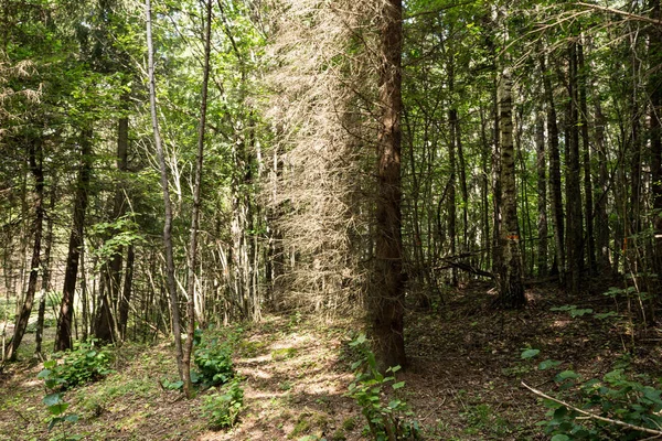
<svg viewBox="0 0 662 441"><path fill-rule="evenodd" d="M660 380L662 327L649 319L648 327L638 326L632 334L623 310L617 311L613 300L601 294L607 288L567 299L553 288L537 287L527 291L525 310L504 312L491 306L494 294L488 284L473 284L447 292L433 312L410 311L410 366L397 373L397 380L405 381L398 394L413 411L408 418L423 428L423 438L546 440L536 426L545 408L521 381L554 394L553 377L559 369L572 368L588 379L619 363ZM616 314L599 315L608 312ZM369 439L362 434L361 409L345 396L355 357L349 342L359 330L355 322L329 324L298 314L245 324L234 353L245 407L238 423L225 431L211 430L202 413L209 391L186 400L162 387L163 379L175 379L177 366L172 345L161 342L115 349L115 373L66 392L67 411L79 420L49 432L45 390L36 378L42 364L30 361L29 335L23 362L0 374L0 440L74 434L85 440ZM527 348L540 349L538 357L523 359ZM540 370L537 364L547 358L563 363L556 370Z"/></svg>

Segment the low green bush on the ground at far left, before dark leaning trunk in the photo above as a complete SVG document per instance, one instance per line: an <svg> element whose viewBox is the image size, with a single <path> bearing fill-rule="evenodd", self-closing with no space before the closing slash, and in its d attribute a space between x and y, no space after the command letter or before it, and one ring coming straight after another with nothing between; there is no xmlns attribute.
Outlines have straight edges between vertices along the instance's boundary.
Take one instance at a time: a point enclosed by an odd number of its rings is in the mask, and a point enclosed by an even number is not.
<svg viewBox="0 0 662 441"><path fill-rule="evenodd" d="M38 378L42 378L49 389L66 390L110 374L110 351L107 347L95 347L96 343L92 338L75 343L73 351L54 354L54 358L44 362L44 369L39 373Z"/></svg>

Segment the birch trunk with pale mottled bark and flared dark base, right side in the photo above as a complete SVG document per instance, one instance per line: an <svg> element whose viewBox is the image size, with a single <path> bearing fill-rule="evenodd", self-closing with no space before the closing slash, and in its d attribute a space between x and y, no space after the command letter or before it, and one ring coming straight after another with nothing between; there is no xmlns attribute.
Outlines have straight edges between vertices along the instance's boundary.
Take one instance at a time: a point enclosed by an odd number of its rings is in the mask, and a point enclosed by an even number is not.
<svg viewBox="0 0 662 441"><path fill-rule="evenodd" d="M501 184L503 189L499 300L502 308L516 309L526 303L526 298L524 297L524 284L522 283L523 270L517 223L512 82L508 72L502 74L499 84L499 127L501 136Z"/></svg>

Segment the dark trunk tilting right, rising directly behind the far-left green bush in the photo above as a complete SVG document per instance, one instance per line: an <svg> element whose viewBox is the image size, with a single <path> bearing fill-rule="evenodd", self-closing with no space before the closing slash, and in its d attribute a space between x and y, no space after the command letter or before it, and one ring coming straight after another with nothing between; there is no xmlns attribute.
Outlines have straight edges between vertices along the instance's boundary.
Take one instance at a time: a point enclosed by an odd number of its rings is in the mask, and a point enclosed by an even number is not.
<svg viewBox="0 0 662 441"><path fill-rule="evenodd" d="M62 288L62 302L57 320L57 335L55 351L72 348L72 322L74 318L74 294L78 276L78 260L83 247L83 228L85 226L85 211L87 209L87 195L89 178L92 174L92 130L84 130L81 136L81 171L76 198L74 201L74 218L68 241L66 268L64 271L64 287Z"/></svg>

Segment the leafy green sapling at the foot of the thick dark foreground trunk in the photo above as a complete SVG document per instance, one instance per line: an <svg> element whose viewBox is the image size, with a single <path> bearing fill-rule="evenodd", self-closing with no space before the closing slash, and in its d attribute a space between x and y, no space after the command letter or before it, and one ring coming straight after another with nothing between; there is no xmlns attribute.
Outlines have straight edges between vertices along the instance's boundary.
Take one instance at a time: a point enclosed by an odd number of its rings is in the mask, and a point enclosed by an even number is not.
<svg viewBox="0 0 662 441"><path fill-rule="evenodd" d="M375 354L367 347L367 338L361 334L350 343L357 349L361 358L352 364L355 378L350 384L348 397L353 398L361 407L361 411L367 420L367 431L376 441L386 440L415 440L419 438L420 428L416 420L412 419L413 412L407 402L397 397L397 390L405 386L405 381L396 381L395 373L399 366L386 369L384 376L377 369ZM396 392L395 397L385 402L384 388L391 385Z"/></svg>

